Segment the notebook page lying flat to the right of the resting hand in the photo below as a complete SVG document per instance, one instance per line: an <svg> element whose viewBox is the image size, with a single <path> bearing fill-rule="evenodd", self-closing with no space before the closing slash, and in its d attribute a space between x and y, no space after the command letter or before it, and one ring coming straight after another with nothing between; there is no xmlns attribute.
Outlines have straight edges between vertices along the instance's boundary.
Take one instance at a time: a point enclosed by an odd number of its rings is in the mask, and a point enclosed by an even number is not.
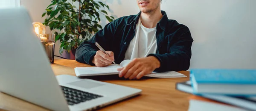
<svg viewBox="0 0 256 111"><path fill-rule="evenodd" d="M183 75L179 72L175 72L175 71L168 71L168 72L161 72L161 73L157 73L157 72L153 72L149 75L144 75L147 77L153 77L153 78L184 78L187 77L186 75Z"/></svg>

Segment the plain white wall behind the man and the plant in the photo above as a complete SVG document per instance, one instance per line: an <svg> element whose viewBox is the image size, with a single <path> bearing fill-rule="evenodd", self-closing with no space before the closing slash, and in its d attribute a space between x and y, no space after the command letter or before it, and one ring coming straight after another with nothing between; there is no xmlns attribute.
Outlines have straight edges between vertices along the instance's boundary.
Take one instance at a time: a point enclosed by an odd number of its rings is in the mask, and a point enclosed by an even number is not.
<svg viewBox="0 0 256 111"><path fill-rule="evenodd" d="M101 1L110 6L115 17L140 11L136 0ZM49 0L22 0L21 5L29 8L34 21L43 22L41 14L49 3ZM161 9L169 19L188 26L192 33L190 68L255 69L255 4L256 0L163 0ZM102 26L108 23L105 21L102 20Z"/></svg>

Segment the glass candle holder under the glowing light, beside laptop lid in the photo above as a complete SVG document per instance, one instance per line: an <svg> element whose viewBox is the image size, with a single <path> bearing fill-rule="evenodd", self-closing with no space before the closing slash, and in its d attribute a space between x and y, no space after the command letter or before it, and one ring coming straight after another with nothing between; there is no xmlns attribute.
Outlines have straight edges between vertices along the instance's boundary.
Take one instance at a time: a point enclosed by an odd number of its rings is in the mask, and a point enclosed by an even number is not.
<svg viewBox="0 0 256 111"><path fill-rule="evenodd" d="M43 44L46 54L48 55L49 61L51 64L54 63L54 47L55 47L55 34L39 34L38 37Z"/></svg>

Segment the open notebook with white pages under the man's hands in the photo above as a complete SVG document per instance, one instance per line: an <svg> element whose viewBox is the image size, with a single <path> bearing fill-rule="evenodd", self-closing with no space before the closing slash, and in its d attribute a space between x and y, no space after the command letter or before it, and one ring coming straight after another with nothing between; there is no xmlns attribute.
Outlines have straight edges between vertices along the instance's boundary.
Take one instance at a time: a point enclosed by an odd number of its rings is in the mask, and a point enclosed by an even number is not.
<svg viewBox="0 0 256 111"><path fill-rule="evenodd" d="M75 73L77 77L83 77L83 76L95 76L95 75L117 75L119 71L117 71L118 68L125 67L129 64L131 60L124 60L118 64L111 64L108 67L76 67ZM183 75L179 72L175 71L168 71L168 72L152 72L151 74L144 75L147 77L153 77L153 78L183 78L187 77L186 75Z"/></svg>

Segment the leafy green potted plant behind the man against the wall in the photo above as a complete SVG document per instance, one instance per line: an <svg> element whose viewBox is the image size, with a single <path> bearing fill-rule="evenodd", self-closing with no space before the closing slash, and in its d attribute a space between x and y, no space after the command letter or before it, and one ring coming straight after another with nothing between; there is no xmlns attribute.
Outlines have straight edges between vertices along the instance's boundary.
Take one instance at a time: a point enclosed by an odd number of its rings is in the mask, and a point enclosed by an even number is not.
<svg viewBox="0 0 256 111"><path fill-rule="evenodd" d="M103 10L105 8L110 10L108 5L94 0L51 0L46 12L42 14L42 17L47 15L43 24L55 31L55 42L59 40L61 43L59 53L65 50L75 55L81 42L102 29L99 25L100 14L112 22L114 17L109 16Z"/></svg>

